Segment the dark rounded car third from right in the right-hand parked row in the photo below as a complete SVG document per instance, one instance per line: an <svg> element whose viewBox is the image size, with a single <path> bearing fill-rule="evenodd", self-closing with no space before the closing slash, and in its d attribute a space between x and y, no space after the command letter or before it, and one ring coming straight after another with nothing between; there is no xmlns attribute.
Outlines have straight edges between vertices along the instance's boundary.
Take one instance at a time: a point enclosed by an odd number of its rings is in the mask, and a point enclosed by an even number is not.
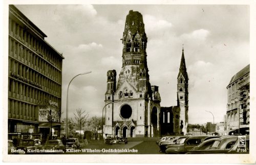
<svg viewBox="0 0 256 165"><path fill-rule="evenodd" d="M198 146L208 136L188 136L179 138L175 145L167 146L166 154L185 154L188 150Z"/></svg>

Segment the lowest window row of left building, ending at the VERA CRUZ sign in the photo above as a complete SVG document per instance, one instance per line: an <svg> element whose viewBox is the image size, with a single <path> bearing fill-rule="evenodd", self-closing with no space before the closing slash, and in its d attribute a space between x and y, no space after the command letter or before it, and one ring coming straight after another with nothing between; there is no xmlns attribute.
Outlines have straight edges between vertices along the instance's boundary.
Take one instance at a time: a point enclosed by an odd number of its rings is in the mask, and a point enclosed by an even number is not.
<svg viewBox="0 0 256 165"><path fill-rule="evenodd" d="M36 121L37 106L17 100L9 99L8 115L11 118Z"/></svg>

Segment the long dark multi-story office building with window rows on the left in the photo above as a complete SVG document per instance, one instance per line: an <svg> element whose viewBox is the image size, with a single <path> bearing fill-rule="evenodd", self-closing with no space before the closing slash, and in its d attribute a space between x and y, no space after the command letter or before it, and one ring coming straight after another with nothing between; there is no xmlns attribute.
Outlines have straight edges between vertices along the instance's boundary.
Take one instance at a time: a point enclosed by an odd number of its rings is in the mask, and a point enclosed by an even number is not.
<svg viewBox="0 0 256 165"><path fill-rule="evenodd" d="M22 12L9 6L9 139L46 140L51 133L60 133L64 57L45 37Z"/></svg>

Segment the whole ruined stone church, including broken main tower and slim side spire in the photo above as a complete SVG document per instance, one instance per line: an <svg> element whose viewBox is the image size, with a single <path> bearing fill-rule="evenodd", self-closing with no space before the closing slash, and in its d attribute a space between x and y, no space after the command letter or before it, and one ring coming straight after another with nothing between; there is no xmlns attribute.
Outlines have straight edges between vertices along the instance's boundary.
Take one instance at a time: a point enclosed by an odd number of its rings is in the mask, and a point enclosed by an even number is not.
<svg viewBox="0 0 256 165"><path fill-rule="evenodd" d="M122 37L122 68L107 72L105 134L156 137L185 133L188 121L188 76L184 53L177 78L177 106L161 107L158 86L151 85L146 60L147 37L142 15L131 10ZM113 103L113 104L112 104Z"/></svg>

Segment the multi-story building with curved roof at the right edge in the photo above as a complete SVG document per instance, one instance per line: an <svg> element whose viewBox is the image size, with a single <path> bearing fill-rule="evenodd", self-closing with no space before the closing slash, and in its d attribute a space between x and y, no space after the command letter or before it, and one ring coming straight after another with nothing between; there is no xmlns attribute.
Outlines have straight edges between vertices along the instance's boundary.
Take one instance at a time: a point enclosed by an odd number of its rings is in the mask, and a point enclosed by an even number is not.
<svg viewBox="0 0 256 165"><path fill-rule="evenodd" d="M227 90L227 130L249 128L250 64L231 78Z"/></svg>

